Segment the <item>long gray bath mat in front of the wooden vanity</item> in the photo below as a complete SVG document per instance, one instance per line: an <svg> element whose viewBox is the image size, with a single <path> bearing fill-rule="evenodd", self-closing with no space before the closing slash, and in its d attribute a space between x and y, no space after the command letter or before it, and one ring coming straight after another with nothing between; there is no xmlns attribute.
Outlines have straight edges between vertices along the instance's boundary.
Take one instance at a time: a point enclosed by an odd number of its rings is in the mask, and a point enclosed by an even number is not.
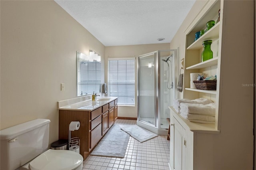
<svg viewBox="0 0 256 170"><path fill-rule="evenodd" d="M91 155L114 156L124 158L130 135L113 125L100 143L91 152Z"/></svg>

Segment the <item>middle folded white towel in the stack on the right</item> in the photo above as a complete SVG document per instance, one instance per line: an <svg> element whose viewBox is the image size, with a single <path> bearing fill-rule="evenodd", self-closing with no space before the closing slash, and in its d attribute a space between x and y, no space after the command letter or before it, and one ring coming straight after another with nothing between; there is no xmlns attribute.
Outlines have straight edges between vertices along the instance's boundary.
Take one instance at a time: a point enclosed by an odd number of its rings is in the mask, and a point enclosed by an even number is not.
<svg viewBox="0 0 256 170"><path fill-rule="evenodd" d="M184 114L198 114L215 116L216 103L210 103L208 105L192 104L192 103L180 103L180 113Z"/></svg>

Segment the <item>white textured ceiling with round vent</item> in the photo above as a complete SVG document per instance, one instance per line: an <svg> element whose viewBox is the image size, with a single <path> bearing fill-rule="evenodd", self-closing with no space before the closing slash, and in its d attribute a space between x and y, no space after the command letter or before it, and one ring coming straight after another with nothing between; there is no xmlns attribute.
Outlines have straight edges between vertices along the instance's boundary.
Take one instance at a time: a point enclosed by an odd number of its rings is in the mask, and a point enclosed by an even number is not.
<svg viewBox="0 0 256 170"><path fill-rule="evenodd" d="M105 46L169 43L195 0L55 0ZM158 41L158 38L165 38Z"/></svg>

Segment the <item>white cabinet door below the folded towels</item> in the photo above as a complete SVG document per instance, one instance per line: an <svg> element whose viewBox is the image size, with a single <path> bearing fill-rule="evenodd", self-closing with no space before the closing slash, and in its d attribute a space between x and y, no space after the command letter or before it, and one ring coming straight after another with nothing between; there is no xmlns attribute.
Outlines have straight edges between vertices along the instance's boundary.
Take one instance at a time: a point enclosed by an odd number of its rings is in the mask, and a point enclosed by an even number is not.
<svg viewBox="0 0 256 170"><path fill-rule="evenodd" d="M185 129L180 125L180 123L174 119L174 161L173 167L176 170L182 170L185 168Z"/></svg>

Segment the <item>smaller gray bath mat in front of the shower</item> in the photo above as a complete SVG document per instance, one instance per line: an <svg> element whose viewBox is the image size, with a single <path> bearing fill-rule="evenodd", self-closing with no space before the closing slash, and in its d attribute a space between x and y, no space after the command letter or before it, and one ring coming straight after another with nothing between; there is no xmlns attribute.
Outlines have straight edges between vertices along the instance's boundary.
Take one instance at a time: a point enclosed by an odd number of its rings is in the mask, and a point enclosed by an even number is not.
<svg viewBox="0 0 256 170"><path fill-rule="evenodd" d="M145 142L151 138L158 136L157 134L150 132L138 125L124 125L121 127L126 133L130 134L133 138L138 140L139 142Z"/></svg>

